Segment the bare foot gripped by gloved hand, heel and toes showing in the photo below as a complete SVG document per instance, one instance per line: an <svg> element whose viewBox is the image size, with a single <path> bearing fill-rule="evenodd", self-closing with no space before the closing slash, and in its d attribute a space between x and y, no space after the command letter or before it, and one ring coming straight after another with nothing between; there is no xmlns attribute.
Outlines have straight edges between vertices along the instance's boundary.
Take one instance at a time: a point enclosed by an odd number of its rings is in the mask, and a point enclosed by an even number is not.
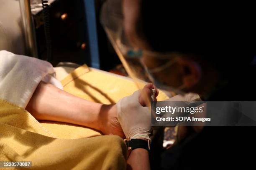
<svg viewBox="0 0 256 170"><path fill-rule="evenodd" d="M148 83L144 86L143 92L147 95L147 97L151 98L152 89L155 88L152 83ZM156 89L156 88L155 88ZM158 95L158 90L156 90L155 97ZM156 101L156 98L155 98ZM146 101L143 99L142 95L139 97L139 102L142 106L146 106ZM125 139L125 135L123 133L123 129L118 122L117 118L117 108L116 105L103 105L102 106L102 112L104 112L104 115L101 115L101 132L104 135L118 135L121 138Z"/></svg>

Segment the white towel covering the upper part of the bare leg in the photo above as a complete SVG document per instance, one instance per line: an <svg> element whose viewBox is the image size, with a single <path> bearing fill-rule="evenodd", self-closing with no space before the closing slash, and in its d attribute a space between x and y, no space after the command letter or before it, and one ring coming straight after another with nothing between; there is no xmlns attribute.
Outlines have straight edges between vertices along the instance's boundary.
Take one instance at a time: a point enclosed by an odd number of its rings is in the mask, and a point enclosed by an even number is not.
<svg viewBox="0 0 256 170"><path fill-rule="evenodd" d="M11 52L0 51L0 99L26 108L40 81L60 89L61 83L53 77L49 62Z"/></svg>

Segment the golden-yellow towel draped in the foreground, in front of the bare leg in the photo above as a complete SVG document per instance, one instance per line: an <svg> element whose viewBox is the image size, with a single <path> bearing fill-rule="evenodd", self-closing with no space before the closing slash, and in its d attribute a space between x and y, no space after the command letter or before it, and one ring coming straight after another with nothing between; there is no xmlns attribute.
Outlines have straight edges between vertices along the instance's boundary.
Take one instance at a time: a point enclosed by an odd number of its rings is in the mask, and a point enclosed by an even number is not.
<svg viewBox="0 0 256 170"><path fill-rule="evenodd" d="M0 100L0 161L32 161L35 170L125 169L126 152L118 136L54 138L26 110Z"/></svg>

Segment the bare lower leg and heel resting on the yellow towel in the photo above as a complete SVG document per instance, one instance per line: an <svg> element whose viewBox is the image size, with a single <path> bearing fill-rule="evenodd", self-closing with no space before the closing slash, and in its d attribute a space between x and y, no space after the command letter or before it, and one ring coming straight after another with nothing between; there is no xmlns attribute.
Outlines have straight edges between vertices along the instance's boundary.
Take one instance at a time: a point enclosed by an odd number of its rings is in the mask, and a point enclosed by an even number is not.
<svg viewBox="0 0 256 170"><path fill-rule="evenodd" d="M41 82L26 107L37 120L73 123L125 138L115 105L90 102Z"/></svg>

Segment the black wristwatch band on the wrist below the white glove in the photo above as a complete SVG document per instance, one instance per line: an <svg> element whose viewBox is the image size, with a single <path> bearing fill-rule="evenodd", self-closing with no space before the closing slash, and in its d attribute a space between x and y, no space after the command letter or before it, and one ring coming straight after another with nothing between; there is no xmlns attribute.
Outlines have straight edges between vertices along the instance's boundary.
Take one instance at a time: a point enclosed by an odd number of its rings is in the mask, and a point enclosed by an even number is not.
<svg viewBox="0 0 256 170"><path fill-rule="evenodd" d="M128 148L128 150L134 150L137 148L143 148L146 150L150 150L150 143L149 140L143 140L143 139L131 139L131 138L127 138L125 139L125 143L126 146Z"/></svg>

